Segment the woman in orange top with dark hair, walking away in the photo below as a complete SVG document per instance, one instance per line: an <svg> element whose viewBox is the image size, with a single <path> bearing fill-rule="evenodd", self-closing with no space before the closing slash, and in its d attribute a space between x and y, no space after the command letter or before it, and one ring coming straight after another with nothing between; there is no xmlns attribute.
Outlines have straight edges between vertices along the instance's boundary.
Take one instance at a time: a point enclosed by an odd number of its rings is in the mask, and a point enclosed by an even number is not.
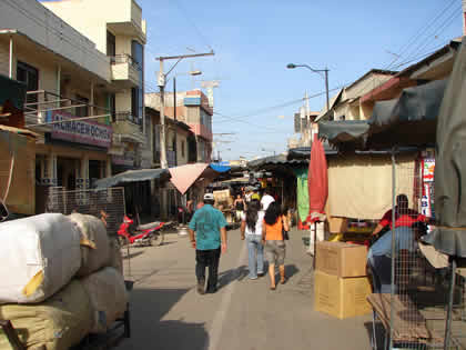
<svg viewBox="0 0 466 350"><path fill-rule="evenodd" d="M272 202L264 216L262 226L262 242L265 244L265 257L269 261L269 276L271 278L271 290L275 290L275 264L278 264L280 282L284 284L285 279L285 253L286 247L283 240L282 229L290 230L286 217L282 213L280 204Z"/></svg>

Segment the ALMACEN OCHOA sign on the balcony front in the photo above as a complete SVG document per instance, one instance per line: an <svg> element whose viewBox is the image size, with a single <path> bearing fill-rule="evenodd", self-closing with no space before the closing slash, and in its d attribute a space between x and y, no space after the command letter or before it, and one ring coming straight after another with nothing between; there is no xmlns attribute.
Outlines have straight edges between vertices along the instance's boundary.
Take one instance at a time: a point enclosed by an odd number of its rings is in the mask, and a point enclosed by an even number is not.
<svg viewBox="0 0 466 350"><path fill-rule="evenodd" d="M112 127L92 120L75 120L77 117L65 112L52 112L52 138L109 148L112 143ZM71 120L74 119L74 120Z"/></svg>

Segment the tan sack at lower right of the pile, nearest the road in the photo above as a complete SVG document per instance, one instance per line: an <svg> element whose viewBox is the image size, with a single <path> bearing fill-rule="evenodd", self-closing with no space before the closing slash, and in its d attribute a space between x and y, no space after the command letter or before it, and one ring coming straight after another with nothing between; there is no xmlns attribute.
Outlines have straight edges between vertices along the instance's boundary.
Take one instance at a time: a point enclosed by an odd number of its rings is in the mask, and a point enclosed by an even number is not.
<svg viewBox="0 0 466 350"><path fill-rule="evenodd" d="M93 309L92 333L103 333L126 310L128 293L123 276L114 268L104 268L82 280Z"/></svg>

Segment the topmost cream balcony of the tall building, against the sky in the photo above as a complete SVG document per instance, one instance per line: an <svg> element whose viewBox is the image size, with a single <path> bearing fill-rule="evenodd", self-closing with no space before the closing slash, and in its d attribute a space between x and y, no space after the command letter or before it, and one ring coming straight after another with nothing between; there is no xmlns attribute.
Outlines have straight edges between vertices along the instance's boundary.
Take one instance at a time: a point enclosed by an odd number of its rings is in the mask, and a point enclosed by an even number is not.
<svg viewBox="0 0 466 350"><path fill-rule="evenodd" d="M142 19L142 10L134 0L130 0L128 6L118 9L114 20L110 20L107 26L115 36L135 37L145 43L145 20ZM116 11L116 9L113 9Z"/></svg>

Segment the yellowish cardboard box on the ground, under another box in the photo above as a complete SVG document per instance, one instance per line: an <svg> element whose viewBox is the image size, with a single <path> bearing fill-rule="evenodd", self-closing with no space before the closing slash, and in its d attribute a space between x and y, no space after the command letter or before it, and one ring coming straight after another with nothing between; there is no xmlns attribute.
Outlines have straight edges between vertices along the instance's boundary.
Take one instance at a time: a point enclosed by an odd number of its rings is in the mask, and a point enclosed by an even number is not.
<svg viewBox="0 0 466 350"><path fill-rule="evenodd" d="M366 314L372 311L367 297L371 283L367 277L340 278L314 272L314 309L338 319Z"/></svg>

